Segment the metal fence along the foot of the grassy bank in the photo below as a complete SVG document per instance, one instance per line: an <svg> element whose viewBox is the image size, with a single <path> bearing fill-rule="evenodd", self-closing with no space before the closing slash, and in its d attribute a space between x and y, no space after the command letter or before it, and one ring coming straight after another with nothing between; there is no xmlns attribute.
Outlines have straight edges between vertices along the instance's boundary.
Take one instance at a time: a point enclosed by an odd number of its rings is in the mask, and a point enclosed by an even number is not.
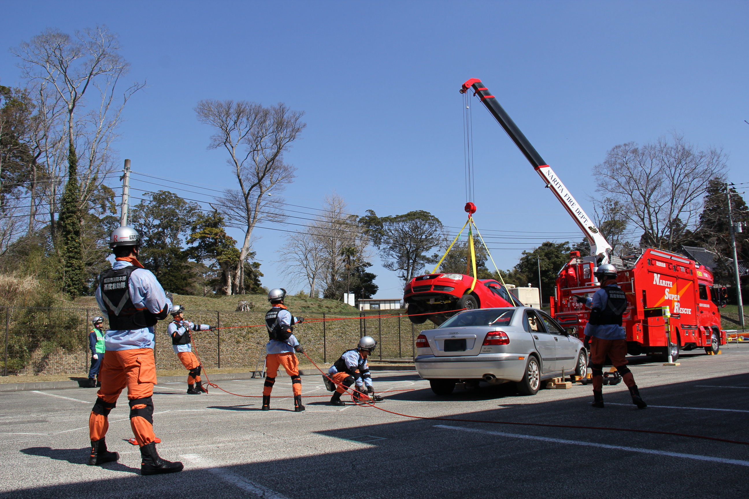
<svg viewBox="0 0 749 499"><path fill-rule="evenodd" d="M294 335L315 362L336 361L366 335L377 340L372 360L412 358L419 331L434 326L413 325L405 313L389 312L305 313L306 321L295 326ZM3 376L88 371L88 333L91 319L101 315L97 308L0 307L0 313L5 320ZM193 350L207 369L254 370L258 361L262 363L268 338L264 313L204 310L191 311L185 318L218 328L192 333ZM166 334L168 324L167 320L155 326L156 366L182 369ZM300 361L306 364L306 358Z"/></svg>

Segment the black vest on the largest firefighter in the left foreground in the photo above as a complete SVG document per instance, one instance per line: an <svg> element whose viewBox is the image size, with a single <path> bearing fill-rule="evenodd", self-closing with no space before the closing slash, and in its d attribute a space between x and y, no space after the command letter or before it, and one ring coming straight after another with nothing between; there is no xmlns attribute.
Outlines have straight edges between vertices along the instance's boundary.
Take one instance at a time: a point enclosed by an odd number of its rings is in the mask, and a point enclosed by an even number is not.
<svg viewBox="0 0 749 499"><path fill-rule="evenodd" d="M109 316L109 329L131 330L156 325L157 319L148 310L138 310L130 299L130 274L136 266L108 269L99 275L101 299Z"/></svg>

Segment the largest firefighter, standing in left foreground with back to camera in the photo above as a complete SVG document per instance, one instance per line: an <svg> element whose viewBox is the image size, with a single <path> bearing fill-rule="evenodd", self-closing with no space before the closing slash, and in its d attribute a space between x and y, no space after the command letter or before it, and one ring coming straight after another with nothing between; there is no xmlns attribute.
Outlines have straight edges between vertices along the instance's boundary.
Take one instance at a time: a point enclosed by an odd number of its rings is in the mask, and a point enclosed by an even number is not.
<svg viewBox="0 0 749 499"><path fill-rule="evenodd" d="M161 284L138 261L140 234L131 227L112 232L109 245L115 254L112 269L99 276L96 299L109 316L104 334L106 355L102 362L101 388L88 420L91 435L89 465L116 461L120 455L106 449L104 435L109 428L109 411L117 405L127 387L130 405L130 428L141 451L141 474L154 475L182 471L181 462L161 459L154 435L154 394L156 364L154 361L154 325L166 319L172 301Z"/></svg>

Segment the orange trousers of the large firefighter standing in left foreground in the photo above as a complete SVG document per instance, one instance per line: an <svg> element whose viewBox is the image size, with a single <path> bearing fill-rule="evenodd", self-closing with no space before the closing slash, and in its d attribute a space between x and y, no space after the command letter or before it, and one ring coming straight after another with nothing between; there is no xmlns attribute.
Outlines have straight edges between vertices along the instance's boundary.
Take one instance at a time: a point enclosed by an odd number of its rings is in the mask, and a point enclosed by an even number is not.
<svg viewBox="0 0 749 499"><path fill-rule="evenodd" d="M153 349L131 349L107 351L99 371L101 388L97 392L97 404L91 417L88 418L88 432L91 440L100 440L109 429L108 415L120 394L127 387L127 399L145 399L144 402L130 406L130 428L138 443L143 446L156 438L152 420L154 405L151 396L156 385L156 362ZM103 402L103 403L102 403ZM149 408L150 405L150 408ZM109 408L105 408L109 406ZM140 411L143 409L145 411ZM98 411L98 412L97 412ZM100 414L103 411L106 414ZM133 415L143 414L143 415Z"/></svg>

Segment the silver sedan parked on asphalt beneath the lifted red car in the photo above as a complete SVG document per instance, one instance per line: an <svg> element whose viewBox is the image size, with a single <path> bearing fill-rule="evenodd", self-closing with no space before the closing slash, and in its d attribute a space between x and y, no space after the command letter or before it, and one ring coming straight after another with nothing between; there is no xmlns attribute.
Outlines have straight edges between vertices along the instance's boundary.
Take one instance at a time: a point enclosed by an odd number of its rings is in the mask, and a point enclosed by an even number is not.
<svg viewBox="0 0 749 499"><path fill-rule="evenodd" d="M455 314L416 338L416 370L437 395L455 384L514 382L535 395L545 379L585 376L587 352L548 313L530 307L480 308Z"/></svg>

